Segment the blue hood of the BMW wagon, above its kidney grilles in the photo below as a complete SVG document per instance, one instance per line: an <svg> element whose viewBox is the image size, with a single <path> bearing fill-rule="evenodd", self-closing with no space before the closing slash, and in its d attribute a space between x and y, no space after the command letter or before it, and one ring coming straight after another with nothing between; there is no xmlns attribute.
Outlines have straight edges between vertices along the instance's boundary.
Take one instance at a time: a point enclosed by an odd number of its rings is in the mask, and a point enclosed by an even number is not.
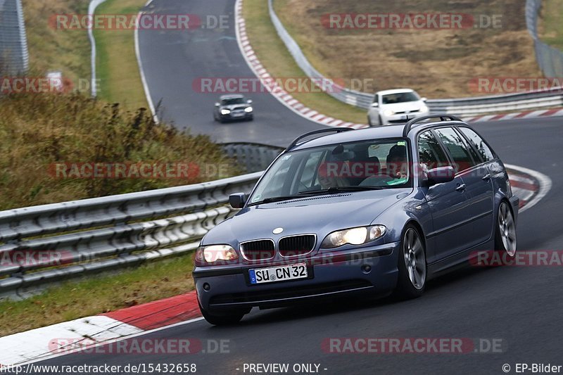
<svg viewBox="0 0 563 375"><path fill-rule="evenodd" d="M276 239L292 234L325 236L331 231L369 225L381 212L411 191L386 189L338 193L243 208L234 217L211 229L202 244L229 243L237 246L243 241ZM272 231L276 228L284 231L274 235Z"/></svg>

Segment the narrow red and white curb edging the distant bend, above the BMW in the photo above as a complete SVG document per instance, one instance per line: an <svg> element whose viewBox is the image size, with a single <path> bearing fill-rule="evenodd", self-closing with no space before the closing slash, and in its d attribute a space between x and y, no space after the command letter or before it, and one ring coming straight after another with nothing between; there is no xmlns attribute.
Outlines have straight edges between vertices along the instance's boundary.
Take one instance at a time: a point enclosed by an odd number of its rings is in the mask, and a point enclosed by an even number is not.
<svg viewBox="0 0 563 375"><path fill-rule="evenodd" d="M284 104L284 106L293 110L293 112L297 113L301 117L305 117L306 119L317 122L321 125L327 125L329 127L350 127L352 129L362 129L367 127L367 124L346 122L318 113L316 110L308 108L296 98L293 98L293 96L291 96L291 94L287 91L279 87L274 78L267 72L258 60L258 56L254 53L251 43L248 40L248 35L246 34L246 21L242 17L242 3L243 0L237 0L234 6L236 41L239 43L239 48L241 49L242 56L246 60L246 63L254 72L256 77L258 77L260 82L262 82L267 91L274 96L274 98L277 98L277 100Z"/></svg>

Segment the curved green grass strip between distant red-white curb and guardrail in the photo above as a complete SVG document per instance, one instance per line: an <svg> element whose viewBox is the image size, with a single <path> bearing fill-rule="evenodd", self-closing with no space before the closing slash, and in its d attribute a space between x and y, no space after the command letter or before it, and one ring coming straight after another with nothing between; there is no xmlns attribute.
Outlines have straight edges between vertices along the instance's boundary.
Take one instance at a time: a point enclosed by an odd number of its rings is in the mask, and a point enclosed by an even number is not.
<svg viewBox="0 0 563 375"><path fill-rule="evenodd" d="M307 77L287 51L284 42L279 39L270 21L267 1L244 0L243 17L252 48L270 75L280 78ZM292 92L291 95L323 115L361 124L366 122L365 110L337 101L328 94Z"/></svg>

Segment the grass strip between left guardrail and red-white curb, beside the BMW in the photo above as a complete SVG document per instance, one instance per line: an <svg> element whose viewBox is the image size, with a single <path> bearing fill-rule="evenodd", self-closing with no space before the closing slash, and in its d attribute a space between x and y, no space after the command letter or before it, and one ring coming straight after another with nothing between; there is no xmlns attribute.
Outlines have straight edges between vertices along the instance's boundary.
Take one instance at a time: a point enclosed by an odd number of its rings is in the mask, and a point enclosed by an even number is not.
<svg viewBox="0 0 563 375"><path fill-rule="evenodd" d="M192 291L192 269L192 255L182 255L119 274L67 281L26 300L0 302L0 336Z"/></svg>

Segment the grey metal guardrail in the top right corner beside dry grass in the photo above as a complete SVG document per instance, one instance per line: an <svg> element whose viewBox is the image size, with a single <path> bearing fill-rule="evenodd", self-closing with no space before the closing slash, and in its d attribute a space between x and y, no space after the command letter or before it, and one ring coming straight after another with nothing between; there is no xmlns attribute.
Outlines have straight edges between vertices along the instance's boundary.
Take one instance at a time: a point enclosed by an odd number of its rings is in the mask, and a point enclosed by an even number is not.
<svg viewBox="0 0 563 375"><path fill-rule="evenodd" d="M533 39L536 61L545 77L563 77L563 52L548 46L538 37L541 0L526 0L526 27Z"/></svg>

